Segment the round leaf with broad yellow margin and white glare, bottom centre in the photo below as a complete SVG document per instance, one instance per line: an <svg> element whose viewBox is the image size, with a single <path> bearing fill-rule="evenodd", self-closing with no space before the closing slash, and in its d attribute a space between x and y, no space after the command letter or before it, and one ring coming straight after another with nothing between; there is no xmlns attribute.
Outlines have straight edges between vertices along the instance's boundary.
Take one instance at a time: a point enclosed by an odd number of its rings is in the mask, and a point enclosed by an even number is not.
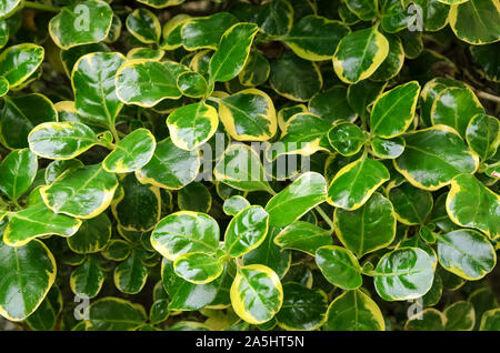
<svg viewBox="0 0 500 353"><path fill-rule="evenodd" d="M234 312L250 324L271 320L283 303L283 288L271 269L253 264L239 268L231 285Z"/></svg>

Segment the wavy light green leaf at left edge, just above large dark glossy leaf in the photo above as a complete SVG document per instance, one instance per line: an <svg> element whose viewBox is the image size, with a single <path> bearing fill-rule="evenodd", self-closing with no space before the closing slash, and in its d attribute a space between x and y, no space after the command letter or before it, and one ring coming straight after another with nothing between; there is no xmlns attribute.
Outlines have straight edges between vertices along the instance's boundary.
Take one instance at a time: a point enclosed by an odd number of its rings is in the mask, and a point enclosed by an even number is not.
<svg viewBox="0 0 500 353"><path fill-rule="evenodd" d="M43 203L12 213L3 232L3 242L9 246L21 246L43 235L73 235L81 225L80 220L57 214Z"/></svg>

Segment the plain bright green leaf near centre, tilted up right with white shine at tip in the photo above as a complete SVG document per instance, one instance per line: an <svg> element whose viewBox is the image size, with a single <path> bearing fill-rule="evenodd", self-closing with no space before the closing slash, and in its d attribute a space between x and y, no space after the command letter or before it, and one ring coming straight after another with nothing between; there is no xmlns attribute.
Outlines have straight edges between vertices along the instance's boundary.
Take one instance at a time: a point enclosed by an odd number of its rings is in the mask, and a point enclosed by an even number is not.
<svg viewBox="0 0 500 353"><path fill-rule="evenodd" d="M307 172L274 195L266 204L269 222L274 226L286 226L320 204L327 196L323 175Z"/></svg>

